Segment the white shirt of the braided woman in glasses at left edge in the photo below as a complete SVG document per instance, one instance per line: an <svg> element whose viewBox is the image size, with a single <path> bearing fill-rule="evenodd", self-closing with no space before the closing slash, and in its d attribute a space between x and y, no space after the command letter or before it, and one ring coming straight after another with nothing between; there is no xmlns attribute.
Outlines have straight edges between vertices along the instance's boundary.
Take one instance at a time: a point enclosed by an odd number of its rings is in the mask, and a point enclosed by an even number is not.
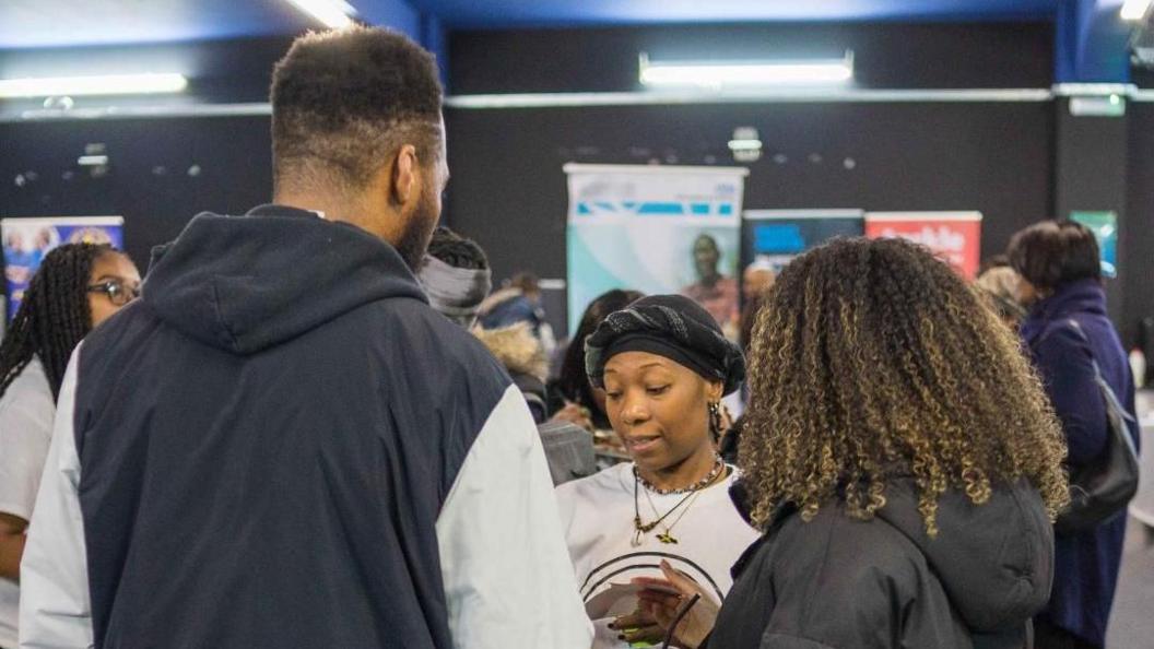
<svg viewBox="0 0 1154 649"><path fill-rule="evenodd" d="M32 357L0 397L0 512L32 520L55 411L44 365ZM16 647L18 618L20 585L0 577L0 647Z"/></svg>

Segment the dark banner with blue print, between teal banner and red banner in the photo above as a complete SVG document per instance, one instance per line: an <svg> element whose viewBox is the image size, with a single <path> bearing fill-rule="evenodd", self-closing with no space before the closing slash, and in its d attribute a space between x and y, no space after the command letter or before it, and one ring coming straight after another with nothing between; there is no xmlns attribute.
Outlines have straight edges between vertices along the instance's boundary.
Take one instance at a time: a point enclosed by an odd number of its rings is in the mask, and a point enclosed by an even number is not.
<svg viewBox="0 0 1154 649"><path fill-rule="evenodd" d="M742 227L742 268L780 273L801 253L834 237L861 237L861 210L745 210Z"/></svg>

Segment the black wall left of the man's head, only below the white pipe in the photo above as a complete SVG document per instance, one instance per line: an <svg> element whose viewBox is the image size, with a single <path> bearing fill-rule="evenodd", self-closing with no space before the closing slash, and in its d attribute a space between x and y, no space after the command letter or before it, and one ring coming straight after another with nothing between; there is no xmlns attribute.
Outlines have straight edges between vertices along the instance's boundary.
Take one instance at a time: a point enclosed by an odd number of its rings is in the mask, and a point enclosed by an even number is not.
<svg viewBox="0 0 1154 649"><path fill-rule="evenodd" d="M121 215L142 271L196 212L243 214L272 193L267 117L0 124L0 216ZM90 144L105 147L104 176L76 164Z"/></svg>

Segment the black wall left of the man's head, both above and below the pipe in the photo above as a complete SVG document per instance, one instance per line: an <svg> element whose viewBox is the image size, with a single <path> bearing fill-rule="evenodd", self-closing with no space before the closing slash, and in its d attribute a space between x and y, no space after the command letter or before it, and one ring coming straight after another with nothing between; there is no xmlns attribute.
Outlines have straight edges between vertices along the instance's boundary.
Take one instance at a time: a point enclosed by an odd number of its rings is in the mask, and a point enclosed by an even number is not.
<svg viewBox="0 0 1154 649"><path fill-rule="evenodd" d="M264 37L9 50L0 51L0 67L48 75L60 67L132 70L144 62L189 77L178 98L81 97L78 111L157 102L260 103L268 100L272 65L291 44L288 37ZM268 117L13 120L38 107L38 102L0 102L0 115L9 119L0 121L0 216L121 215L125 247L141 270L149 249L175 237L196 212L242 214L271 195ZM103 144L110 158L107 172L97 177L76 164L92 144Z"/></svg>

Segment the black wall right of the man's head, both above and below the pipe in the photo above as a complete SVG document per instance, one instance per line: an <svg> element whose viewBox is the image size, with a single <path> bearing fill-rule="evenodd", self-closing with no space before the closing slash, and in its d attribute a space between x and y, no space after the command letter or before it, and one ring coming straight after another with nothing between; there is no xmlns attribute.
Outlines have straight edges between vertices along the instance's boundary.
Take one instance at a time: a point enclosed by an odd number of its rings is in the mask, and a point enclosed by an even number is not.
<svg viewBox="0 0 1154 649"><path fill-rule="evenodd" d="M653 59L838 57L855 85L1049 88L1052 25L704 25L472 31L450 37L455 95L637 90ZM703 54L703 52L705 54ZM562 165L735 164L754 126L747 208L981 210L983 255L1054 214L1054 103L824 103L450 110L447 216L499 277L565 276ZM784 157L782 157L784 156Z"/></svg>

